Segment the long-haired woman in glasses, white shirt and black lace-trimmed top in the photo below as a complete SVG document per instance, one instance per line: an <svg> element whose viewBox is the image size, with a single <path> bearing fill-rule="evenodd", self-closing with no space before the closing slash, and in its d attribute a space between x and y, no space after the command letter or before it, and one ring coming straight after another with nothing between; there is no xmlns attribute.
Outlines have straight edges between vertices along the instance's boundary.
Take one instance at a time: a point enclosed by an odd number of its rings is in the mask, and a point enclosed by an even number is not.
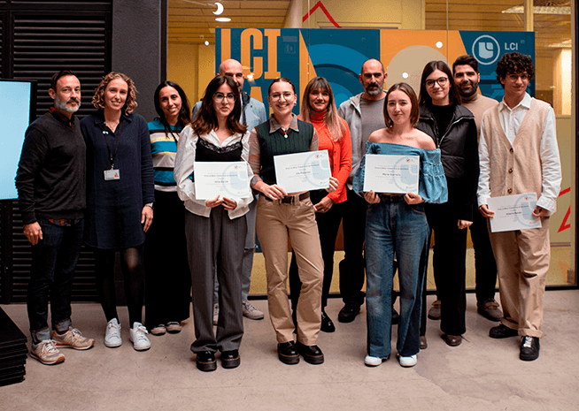
<svg viewBox="0 0 579 411"><path fill-rule="evenodd" d="M197 200L195 162L247 161L249 133L239 123L241 102L235 81L216 76L207 88L197 120L186 126L179 137L174 178L177 193L185 203L185 235L193 284L193 319L196 340L191 351L197 354L197 368L233 369L241 360L243 310L240 273L247 225L244 215L251 198L217 196ZM247 165L248 177L252 172ZM214 276L220 283L220 314L213 333Z"/></svg>

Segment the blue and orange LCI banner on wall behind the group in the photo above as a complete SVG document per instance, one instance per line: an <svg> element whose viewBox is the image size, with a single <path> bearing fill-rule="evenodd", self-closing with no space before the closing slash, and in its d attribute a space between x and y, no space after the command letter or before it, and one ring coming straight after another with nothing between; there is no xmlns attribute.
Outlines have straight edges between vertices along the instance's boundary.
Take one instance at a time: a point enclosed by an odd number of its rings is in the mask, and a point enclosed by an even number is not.
<svg viewBox="0 0 579 411"><path fill-rule="evenodd" d="M358 75L368 58L382 61L388 79L384 88L405 81L420 90L424 65L474 56L479 62L481 92L502 99L495 68L498 59L519 51L535 59L531 32L426 31L388 29L218 28L216 72L220 62L235 58L243 65L244 91L266 104L267 87L277 77L291 80L301 95L315 76L325 77L336 105L361 93ZM535 95L535 82L529 85ZM417 93L418 94L418 93ZM298 112L296 107L295 112Z"/></svg>

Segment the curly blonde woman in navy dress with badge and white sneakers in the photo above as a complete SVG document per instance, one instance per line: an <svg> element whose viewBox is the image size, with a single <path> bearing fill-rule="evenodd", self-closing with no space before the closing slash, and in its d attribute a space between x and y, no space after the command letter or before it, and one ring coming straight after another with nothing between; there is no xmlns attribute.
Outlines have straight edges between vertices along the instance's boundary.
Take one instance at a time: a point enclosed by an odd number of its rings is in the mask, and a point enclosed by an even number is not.
<svg viewBox="0 0 579 411"><path fill-rule="evenodd" d="M142 323L143 243L153 219L153 168L147 123L135 110L135 85L110 72L95 90L97 113L81 121L87 144L85 243L95 253L97 290L107 326L104 345L122 344L114 282L115 253L125 282L129 339L135 350L151 342Z"/></svg>

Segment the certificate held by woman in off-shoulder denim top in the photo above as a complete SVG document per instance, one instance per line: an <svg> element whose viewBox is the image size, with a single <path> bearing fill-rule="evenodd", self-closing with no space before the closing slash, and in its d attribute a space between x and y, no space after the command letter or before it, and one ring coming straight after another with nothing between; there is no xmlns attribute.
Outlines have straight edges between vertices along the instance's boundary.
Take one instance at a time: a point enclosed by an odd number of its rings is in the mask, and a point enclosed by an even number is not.
<svg viewBox="0 0 579 411"><path fill-rule="evenodd" d="M365 192L418 193L420 156L367 154L364 170Z"/></svg>

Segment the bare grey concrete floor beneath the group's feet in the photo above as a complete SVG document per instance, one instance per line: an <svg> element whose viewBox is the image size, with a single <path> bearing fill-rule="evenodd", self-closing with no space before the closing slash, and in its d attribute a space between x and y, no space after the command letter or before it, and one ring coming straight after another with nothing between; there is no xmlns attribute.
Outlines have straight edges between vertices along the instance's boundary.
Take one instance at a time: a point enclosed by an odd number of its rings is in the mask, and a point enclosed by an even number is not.
<svg viewBox="0 0 579 411"><path fill-rule="evenodd" d="M428 298L428 303L433 297ZM266 311L266 301L253 301ZM27 334L25 305L4 311ZM342 302L331 299L336 321ZM203 373L189 351L188 320L179 334L151 336L151 350L136 352L128 340L127 310L120 308L123 345L103 344L104 315L97 304L74 304L73 323L97 339L89 351L63 350L53 367L27 361L23 383L0 388L0 410L576 410L579 409L579 291L548 292L544 338L535 362L519 360L519 339L488 337L491 323L476 314L467 295L467 333L461 346L440 339L428 321L428 349L403 369L393 355L377 368L364 366L365 309L353 323L320 333L326 362L288 366L277 359L274 330L265 320L244 319L237 369ZM393 344L396 329L393 331ZM219 360L218 360L219 361Z"/></svg>

